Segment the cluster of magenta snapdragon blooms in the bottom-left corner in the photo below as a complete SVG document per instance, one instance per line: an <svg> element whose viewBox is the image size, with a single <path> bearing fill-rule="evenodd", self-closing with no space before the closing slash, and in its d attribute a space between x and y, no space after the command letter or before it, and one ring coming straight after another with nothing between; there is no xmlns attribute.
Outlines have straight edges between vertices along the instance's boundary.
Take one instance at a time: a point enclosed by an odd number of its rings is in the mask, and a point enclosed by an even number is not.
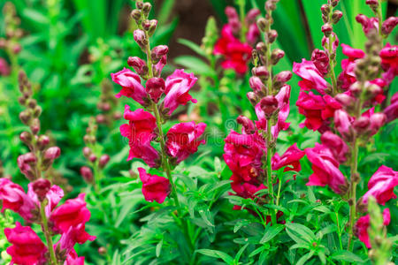
<svg viewBox="0 0 398 265"><path fill-rule="evenodd" d="M25 193L18 184L7 178L0 178L2 212L8 208L22 216L27 223L41 223L41 200L38 196L43 196L48 201L45 215L49 219L50 230L54 234L61 234L61 238L53 246L57 258L65 261L65 264L84 264L84 257L78 257L73 246L96 239L85 231L90 212L84 201L84 193L76 199L66 200L57 207L64 192L59 186L50 187L50 181L38 179L28 185L28 191ZM7 248L7 253L12 258L11 262L22 265L45 264L48 249L29 226L17 223L15 228L4 229L4 233L12 244Z"/></svg>

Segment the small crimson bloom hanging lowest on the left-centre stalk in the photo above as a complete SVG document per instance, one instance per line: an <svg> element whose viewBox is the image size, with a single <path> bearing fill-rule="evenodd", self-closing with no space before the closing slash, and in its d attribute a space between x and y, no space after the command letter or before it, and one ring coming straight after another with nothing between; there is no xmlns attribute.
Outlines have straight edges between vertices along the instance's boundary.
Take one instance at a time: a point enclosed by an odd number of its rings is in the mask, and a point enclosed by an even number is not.
<svg viewBox="0 0 398 265"><path fill-rule="evenodd" d="M163 203L170 193L170 181L157 175L150 175L146 170L138 168L142 181L142 194L146 201Z"/></svg>

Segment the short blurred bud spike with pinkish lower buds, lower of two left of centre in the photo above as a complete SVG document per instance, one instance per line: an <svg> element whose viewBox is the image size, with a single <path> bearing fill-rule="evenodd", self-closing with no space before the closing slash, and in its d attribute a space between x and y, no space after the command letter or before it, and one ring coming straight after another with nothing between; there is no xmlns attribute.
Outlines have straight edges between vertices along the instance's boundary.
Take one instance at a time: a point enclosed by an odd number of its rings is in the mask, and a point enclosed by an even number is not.
<svg viewBox="0 0 398 265"><path fill-rule="evenodd" d="M110 160L110 156L106 154L101 154L101 147L96 142L96 132L98 130L98 125L94 118L91 118L88 122L88 128L86 129L86 135L84 135L84 142L86 146L83 148L83 155L88 160L89 166L94 169L97 176L94 176L93 170L88 166L82 166L80 168L81 177L90 184L95 184L100 178L100 170L106 166Z"/></svg>

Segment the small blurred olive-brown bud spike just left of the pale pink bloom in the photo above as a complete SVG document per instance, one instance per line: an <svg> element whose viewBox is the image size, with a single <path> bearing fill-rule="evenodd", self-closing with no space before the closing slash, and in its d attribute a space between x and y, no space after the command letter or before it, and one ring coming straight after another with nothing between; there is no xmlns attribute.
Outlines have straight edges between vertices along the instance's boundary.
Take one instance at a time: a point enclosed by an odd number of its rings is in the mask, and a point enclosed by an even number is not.
<svg viewBox="0 0 398 265"><path fill-rule="evenodd" d="M116 110L118 100L113 95L113 87L108 79L101 82L100 101L96 104L101 113L96 115L96 123L111 126L113 121L118 120L122 115Z"/></svg>

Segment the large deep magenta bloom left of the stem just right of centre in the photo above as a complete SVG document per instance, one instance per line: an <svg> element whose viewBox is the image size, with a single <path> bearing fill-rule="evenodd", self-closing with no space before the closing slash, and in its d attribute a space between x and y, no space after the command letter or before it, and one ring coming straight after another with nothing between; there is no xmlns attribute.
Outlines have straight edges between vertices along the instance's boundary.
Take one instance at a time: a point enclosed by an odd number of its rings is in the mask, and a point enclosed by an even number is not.
<svg viewBox="0 0 398 265"><path fill-rule="evenodd" d="M261 136L232 131L225 141L224 160L233 174L244 181L260 177L263 172L261 159L266 150Z"/></svg>

